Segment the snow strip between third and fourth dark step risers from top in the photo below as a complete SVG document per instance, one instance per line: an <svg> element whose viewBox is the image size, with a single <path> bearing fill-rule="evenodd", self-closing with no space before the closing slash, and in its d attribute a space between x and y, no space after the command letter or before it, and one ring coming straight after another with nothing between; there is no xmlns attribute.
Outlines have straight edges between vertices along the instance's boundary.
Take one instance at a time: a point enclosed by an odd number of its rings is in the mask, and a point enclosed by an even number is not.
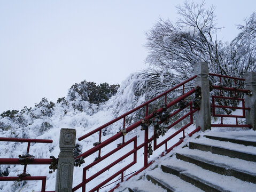
<svg viewBox="0 0 256 192"><path fill-rule="evenodd" d="M256 191L256 185L250 182L239 180L235 177L225 176L205 170L195 164L188 163L177 159L176 157L166 158L164 161L159 162L162 165L170 165L183 169L182 173L189 173L200 179L219 186L224 190L241 192L241 191ZM186 191L186 190L184 190Z"/></svg>

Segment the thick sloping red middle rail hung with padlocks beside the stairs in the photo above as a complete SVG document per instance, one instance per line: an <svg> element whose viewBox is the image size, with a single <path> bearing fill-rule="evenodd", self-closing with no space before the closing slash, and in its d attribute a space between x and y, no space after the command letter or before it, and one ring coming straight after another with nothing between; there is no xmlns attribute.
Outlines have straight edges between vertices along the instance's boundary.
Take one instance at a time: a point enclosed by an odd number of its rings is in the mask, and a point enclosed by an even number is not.
<svg viewBox="0 0 256 192"><path fill-rule="evenodd" d="M184 95L182 95L181 97L175 99L174 101L168 103L167 105L167 109L172 107L173 105L175 105L176 103L180 102L181 100L183 100L184 98L187 98L189 95L193 94L195 92L195 89L192 89L191 91L185 93ZM158 109L157 111L159 111L160 113L163 111L162 108ZM153 113L151 113L150 115L146 116L145 119L150 119L153 117ZM138 122L134 123L133 125L130 125L129 127L127 127L126 129L126 133L129 133L130 131L134 130L136 127L138 127L139 125L141 125L141 120L139 120ZM103 141L102 143L100 143L99 145L89 149L88 151L84 152L83 154L77 156L76 158L86 158L91 154L94 154L97 150L99 150L100 148L103 148L105 146L107 146L109 143L119 139L120 137L122 137L122 133L119 132L115 135L113 135L111 138L108 138L107 140Z"/></svg>

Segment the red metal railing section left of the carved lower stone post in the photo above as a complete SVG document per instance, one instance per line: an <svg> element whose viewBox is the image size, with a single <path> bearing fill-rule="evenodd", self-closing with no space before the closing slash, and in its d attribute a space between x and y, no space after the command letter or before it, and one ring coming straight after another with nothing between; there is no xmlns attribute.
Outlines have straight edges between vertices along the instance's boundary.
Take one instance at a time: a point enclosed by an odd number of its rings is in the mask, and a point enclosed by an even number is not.
<svg viewBox="0 0 256 192"><path fill-rule="evenodd" d="M0 138L0 141L11 141L11 142L27 142L27 151L26 153L29 153L30 149L30 143L52 143L52 140L49 139L19 139L19 138ZM26 175L27 165L28 164L51 164L52 159L42 159L42 158L34 158L29 159L25 164L23 161L20 161L19 158L0 158L0 164L9 164L9 165L21 165L24 164L24 170L23 173L20 174L19 177L0 177L0 181L28 181L28 180L42 180L42 187L41 192L45 191L45 185L46 185L46 177L43 176L29 176ZM54 191L47 191L47 192L54 192Z"/></svg>

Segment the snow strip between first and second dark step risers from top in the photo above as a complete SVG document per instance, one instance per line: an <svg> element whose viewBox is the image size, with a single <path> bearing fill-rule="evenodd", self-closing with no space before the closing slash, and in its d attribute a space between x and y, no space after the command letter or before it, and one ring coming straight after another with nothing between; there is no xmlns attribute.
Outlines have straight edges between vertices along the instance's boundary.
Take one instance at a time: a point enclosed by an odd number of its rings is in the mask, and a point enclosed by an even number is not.
<svg viewBox="0 0 256 192"><path fill-rule="evenodd" d="M253 146L244 146L244 145L239 145L239 144L228 142L228 141L218 141L218 140L208 139L204 137L200 137L199 139L193 140L193 142L208 145L208 146L222 147L226 149L242 151L245 153L256 155L256 147L253 147Z"/></svg>

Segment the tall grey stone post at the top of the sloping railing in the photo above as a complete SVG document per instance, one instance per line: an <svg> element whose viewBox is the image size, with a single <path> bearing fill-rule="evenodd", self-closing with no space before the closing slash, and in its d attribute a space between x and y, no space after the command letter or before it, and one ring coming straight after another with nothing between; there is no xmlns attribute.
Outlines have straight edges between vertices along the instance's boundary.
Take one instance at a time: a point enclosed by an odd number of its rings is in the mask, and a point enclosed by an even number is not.
<svg viewBox="0 0 256 192"><path fill-rule="evenodd" d="M196 111L196 127L200 126L201 131L211 129L211 109L210 109L210 88L208 63L198 62L194 66L195 86L201 87L200 110Z"/></svg>

